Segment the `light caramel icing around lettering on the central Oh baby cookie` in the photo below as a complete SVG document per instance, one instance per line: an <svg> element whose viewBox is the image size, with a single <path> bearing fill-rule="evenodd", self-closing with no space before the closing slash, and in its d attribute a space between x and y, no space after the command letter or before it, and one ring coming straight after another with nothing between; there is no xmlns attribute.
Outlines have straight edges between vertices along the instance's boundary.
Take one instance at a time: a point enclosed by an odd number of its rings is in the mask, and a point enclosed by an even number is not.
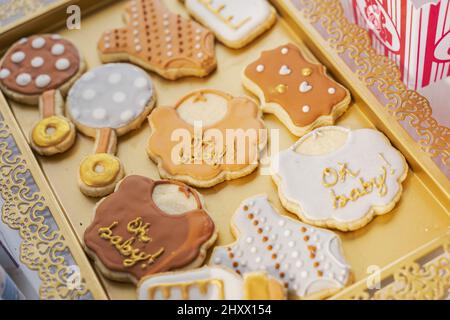
<svg viewBox="0 0 450 320"><path fill-rule="evenodd" d="M233 98L216 90L203 90L201 92L215 93L225 96L228 100L228 110L225 117L213 126L205 126L203 132L209 129L218 129L226 137L226 129L255 129L258 133L259 129L264 129L263 122L259 119L258 106L247 98ZM149 149L153 154L162 161L163 168L171 175L187 175L199 180L209 180L218 176L223 171L240 171L247 167L251 162L249 152L246 152L245 163L219 165L209 164L205 161L202 163L174 163L172 161L172 150L179 141L171 141L171 135L176 129L186 129L194 136L194 127L186 123L177 113L177 108L186 99L198 95L199 92L193 92L181 99L175 106L156 108L149 116L149 121L153 126L153 134L149 141ZM201 95L200 95L201 96ZM224 143L230 143L224 138ZM246 150L249 149L248 141L246 141Z"/></svg>

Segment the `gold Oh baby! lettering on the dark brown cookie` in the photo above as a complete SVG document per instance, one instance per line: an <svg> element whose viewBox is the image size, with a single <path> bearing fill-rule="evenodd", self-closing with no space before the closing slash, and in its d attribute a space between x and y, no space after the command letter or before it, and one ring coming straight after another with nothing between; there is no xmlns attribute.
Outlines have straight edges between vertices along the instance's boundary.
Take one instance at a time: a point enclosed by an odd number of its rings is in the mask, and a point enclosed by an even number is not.
<svg viewBox="0 0 450 320"><path fill-rule="evenodd" d="M140 221L139 228L136 228L136 225L139 224L139 222L137 222L137 221ZM123 257L126 257L126 259L123 260L124 267L133 267L138 262L143 261L142 268L146 268L148 265L153 264L155 262L155 260L163 254L164 248L160 248L157 252L155 252L153 254L145 253L145 252L142 252L140 249L133 247L133 244L136 241L135 237L131 237L128 240L124 240L123 237L114 235L112 229L115 228L118 224L119 223L117 221L115 221L109 227L99 228L98 235L102 239L109 240L109 242L113 245L113 247L116 248L117 251L119 251L119 253ZM142 218L137 218L137 219L129 222L128 226L127 226L127 230L130 233L136 234L138 236L138 239L137 239L138 241L141 241L142 236L143 236L142 233L144 233L144 232L145 232L144 240L148 238L148 236L146 235L146 233L147 233L146 228L148 228L148 224L142 225ZM150 239L150 238L148 238L148 239ZM149 240L144 241L144 242L148 242L148 241Z"/></svg>

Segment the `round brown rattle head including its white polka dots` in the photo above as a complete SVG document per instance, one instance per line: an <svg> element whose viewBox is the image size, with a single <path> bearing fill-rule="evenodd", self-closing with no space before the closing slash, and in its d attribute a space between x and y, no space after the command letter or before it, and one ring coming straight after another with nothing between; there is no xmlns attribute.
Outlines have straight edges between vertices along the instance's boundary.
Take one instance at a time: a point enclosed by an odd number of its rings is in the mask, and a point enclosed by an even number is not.
<svg viewBox="0 0 450 320"><path fill-rule="evenodd" d="M57 35L36 35L15 43L5 54L0 82L7 89L38 95L57 89L79 71L80 55L68 40Z"/></svg>

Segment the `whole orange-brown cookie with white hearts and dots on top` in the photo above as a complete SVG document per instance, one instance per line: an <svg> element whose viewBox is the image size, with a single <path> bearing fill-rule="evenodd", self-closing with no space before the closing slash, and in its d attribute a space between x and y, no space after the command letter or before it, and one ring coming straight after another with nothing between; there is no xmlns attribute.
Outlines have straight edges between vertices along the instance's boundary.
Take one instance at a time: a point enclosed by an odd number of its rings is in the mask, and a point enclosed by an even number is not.
<svg viewBox="0 0 450 320"><path fill-rule="evenodd" d="M296 136L332 125L350 103L348 90L293 44L264 51L245 68L243 84L259 97L264 112L275 114Z"/></svg>

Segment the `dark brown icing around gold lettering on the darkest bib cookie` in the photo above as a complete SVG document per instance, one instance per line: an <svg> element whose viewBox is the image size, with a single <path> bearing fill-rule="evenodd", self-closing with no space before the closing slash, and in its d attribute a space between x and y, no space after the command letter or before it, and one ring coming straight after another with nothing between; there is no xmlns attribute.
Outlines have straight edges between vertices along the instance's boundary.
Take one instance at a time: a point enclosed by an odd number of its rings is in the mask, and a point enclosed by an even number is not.
<svg viewBox="0 0 450 320"><path fill-rule="evenodd" d="M119 189L97 207L94 221L84 234L84 242L106 268L140 279L145 275L183 268L198 257L201 246L214 234L214 223L202 208L196 192L190 188L190 195L195 197L198 209L181 215L169 215L159 209L152 199L153 190L157 185L167 183L188 188L179 182L128 176ZM145 234L133 235L127 230L127 225L137 218L148 224ZM133 248L155 254L153 263L144 265L139 262L124 266L126 257L110 241L99 236L99 229L115 222L117 225L112 229L114 235L124 240L134 237Z"/></svg>

